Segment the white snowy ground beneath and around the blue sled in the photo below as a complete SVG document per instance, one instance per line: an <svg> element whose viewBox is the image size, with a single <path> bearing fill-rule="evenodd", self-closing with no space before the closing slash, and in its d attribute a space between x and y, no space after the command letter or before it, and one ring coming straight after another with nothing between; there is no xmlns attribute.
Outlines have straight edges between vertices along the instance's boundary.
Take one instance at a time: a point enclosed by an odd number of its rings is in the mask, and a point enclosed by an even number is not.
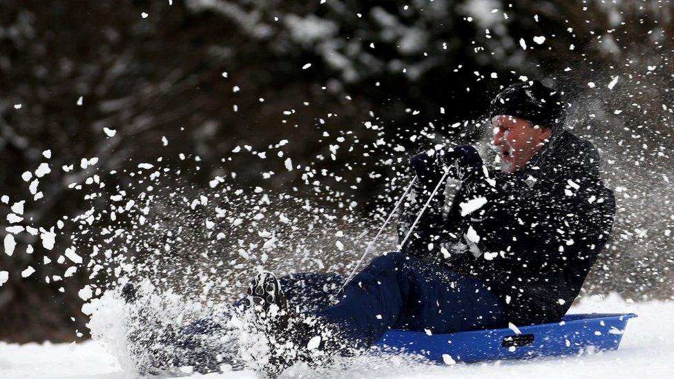
<svg viewBox="0 0 674 379"><path fill-rule="evenodd" d="M664 378L674 371L674 302L628 304L617 296L589 300L572 313L633 312L618 351L589 356L546 358L473 365L380 365L356 360L336 378ZM306 375L306 373L305 373ZM309 374L310 375L310 374ZM333 376L333 375L331 375ZM6 344L0 342L0 378L134 378L97 342L81 344ZM255 378L237 371L191 378Z"/></svg>

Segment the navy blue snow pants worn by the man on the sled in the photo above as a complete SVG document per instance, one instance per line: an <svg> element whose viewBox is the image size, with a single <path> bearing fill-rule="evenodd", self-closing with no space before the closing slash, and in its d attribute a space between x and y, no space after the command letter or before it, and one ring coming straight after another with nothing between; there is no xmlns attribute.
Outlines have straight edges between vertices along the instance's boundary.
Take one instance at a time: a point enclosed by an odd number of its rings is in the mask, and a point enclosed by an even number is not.
<svg viewBox="0 0 674 379"><path fill-rule="evenodd" d="M438 334L508 324L501 302L479 280L401 253L374 258L345 286L337 304L330 298L343 284L340 275L295 273L279 280L290 307L338 325L356 347L375 344L389 329ZM247 300L237 304L245 307ZM174 344L193 356L181 358L204 367L219 362L213 352L200 348L195 336L220 329L209 318L182 328Z"/></svg>

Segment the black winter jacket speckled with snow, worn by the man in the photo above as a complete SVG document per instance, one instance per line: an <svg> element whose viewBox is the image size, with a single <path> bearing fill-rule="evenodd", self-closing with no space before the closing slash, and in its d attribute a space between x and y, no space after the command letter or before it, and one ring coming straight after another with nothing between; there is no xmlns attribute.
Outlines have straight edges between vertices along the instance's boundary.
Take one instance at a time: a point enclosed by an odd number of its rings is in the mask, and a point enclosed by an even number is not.
<svg viewBox="0 0 674 379"><path fill-rule="evenodd" d="M398 221L402 239L430 193L414 186ZM447 217L439 193L403 252L478 278L503 302L510 322L557 322L578 295L615 215L599 178L599 155L568 131L512 174L465 180Z"/></svg>

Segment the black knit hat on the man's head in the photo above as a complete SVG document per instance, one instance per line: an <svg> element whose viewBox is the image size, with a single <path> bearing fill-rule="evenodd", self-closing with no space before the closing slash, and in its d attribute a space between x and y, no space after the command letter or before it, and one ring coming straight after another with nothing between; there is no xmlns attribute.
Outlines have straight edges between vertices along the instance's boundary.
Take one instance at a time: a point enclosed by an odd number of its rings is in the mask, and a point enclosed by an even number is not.
<svg viewBox="0 0 674 379"><path fill-rule="evenodd" d="M559 91L530 80L512 84L494 97L489 111L490 118L508 115L526 119L535 125L551 129L564 124L564 103Z"/></svg>

